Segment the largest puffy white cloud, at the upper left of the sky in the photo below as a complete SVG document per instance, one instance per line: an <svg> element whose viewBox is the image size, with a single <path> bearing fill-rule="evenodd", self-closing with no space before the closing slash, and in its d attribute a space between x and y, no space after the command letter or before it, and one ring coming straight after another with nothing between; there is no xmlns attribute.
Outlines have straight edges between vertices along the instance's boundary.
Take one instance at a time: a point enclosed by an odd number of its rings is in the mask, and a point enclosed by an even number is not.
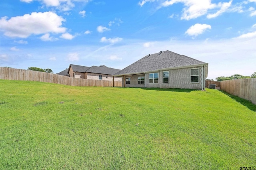
<svg viewBox="0 0 256 170"><path fill-rule="evenodd" d="M65 20L53 12L32 12L24 16L7 17L0 19L0 30L8 37L27 38L31 34L39 35L64 33L66 28L61 27Z"/></svg>

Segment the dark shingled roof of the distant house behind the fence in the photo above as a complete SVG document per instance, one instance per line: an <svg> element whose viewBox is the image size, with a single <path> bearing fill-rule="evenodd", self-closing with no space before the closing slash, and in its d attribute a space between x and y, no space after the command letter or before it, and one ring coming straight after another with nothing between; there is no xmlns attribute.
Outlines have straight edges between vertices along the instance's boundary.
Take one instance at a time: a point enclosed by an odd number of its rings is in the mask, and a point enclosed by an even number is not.
<svg viewBox="0 0 256 170"><path fill-rule="evenodd" d="M120 71L120 69L113 69L110 67L106 67L105 65L86 67L86 66L82 66L82 65L70 64L70 67L72 67L73 71L81 72L81 73L88 72L88 73L113 75L113 74L117 73L118 71Z"/></svg>

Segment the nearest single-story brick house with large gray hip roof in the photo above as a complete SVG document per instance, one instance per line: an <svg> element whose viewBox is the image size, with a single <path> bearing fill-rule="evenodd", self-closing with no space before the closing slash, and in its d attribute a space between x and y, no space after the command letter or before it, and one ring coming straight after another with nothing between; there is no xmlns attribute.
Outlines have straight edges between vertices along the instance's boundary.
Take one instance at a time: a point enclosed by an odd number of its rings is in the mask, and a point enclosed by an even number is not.
<svg viewBox="0 0 256 170"><path fill-rule="evenodd" d="M205 88L208 63L172 51L147 55L114 76L122 76L123 87Z"/></svg>

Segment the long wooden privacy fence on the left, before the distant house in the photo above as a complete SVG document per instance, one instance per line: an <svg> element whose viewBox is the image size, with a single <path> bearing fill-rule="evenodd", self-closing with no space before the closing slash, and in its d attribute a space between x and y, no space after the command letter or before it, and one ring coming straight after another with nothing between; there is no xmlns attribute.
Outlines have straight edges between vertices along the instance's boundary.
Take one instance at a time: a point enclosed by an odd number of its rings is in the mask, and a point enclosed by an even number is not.
<svg viewBox="0 0 256 170"><path fill-rule="evenodd" d="M56 83L70 86L113 87L113 81L79 79L53 73L30 71L24 69L13 69L7 67L0 67L0 79L41 81L46 83ZM114 87L122 87L122 81L114 81Z"/></svg>

